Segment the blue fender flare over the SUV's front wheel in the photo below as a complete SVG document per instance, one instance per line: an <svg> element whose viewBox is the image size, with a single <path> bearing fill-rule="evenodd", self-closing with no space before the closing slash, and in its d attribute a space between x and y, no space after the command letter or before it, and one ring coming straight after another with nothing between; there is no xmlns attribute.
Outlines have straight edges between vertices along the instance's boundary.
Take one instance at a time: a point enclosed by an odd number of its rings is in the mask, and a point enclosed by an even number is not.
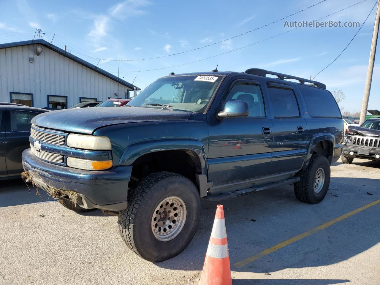
<svg viewBox="0 0 380 285"><path fill-rule="evenodd" d="M137 158L152 152L165 150L188 150L199 159L201 173L207 175L206 151L203 143L195 139L160 139L154 141L137 142L127 146L120 158L119 165L131 165Z"/></svg>

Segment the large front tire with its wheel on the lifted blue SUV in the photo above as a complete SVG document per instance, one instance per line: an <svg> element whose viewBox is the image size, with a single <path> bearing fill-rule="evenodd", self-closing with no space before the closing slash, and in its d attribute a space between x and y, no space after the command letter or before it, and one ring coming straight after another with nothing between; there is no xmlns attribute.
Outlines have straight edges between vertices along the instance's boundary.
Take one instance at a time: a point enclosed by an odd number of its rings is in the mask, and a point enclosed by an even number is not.
<svg viewBox="0 0 380 285"><path fill-rule="evenodd" d="M192 240L200 217L200 199L186 177L157 172L141 179L128 193L119 231L142 258L160 262L182 252Z"/></svg>

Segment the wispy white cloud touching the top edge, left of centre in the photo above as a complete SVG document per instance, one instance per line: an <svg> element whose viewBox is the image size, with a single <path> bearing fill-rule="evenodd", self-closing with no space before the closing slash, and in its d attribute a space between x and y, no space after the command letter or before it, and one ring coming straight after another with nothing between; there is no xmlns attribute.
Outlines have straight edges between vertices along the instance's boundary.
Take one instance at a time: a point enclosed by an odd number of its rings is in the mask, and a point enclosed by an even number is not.
<svg viewBox="0 0 380 285"><path fill-rule="evenodd" d="M130 15L146 14L147 10L142 8L149 5L150 2L147 0L127 0L112 6L108 11L112 17L122 20Z"/></svg>

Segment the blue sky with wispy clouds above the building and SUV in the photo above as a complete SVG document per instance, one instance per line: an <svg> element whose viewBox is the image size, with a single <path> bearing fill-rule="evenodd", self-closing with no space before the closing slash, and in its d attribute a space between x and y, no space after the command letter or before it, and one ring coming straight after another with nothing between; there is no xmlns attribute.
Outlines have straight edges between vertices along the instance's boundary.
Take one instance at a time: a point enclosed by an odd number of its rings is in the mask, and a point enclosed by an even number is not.
<svg viewBox="0 0 380 285"><path fill-rule="evenodd" d="M312 21L360 0L326 0L289 17L288 21ZM0 43L31 40L35 28L43 39L117 75L120 60L145 59L188 51L230 38L318 3L307 1L1 1ZM326 20L360 22L375 4L367 0ZM375 9L355 40L315 80L329 90L346 94L344 110L357 111L363 99ZM325 20L323 20L325 21ZM146 87L169 72L244 71L259 67L309 78L330 63L348 44L358 28L299 28L262 43L179 67L286 32L285 20L232 40L184 54L152 60L120 61L120 78ZM37 37L38 38L38 37ZM379 44L380 45L380 44ZM375 61L369 109L380 109L380 52ZM116 60L116 61L115 61ZM131 72L132 71L132 72Z"/></svg>

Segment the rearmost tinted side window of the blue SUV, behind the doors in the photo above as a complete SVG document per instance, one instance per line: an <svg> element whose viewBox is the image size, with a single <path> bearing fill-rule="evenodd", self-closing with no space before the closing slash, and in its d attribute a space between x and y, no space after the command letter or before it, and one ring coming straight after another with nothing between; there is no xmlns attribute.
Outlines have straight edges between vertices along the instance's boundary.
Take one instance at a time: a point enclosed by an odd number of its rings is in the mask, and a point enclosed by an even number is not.
<svg viewBox="0 0 380 285"><path fill-rule="evenodd" d="M298 87L311 117L342 118L339 107L330 92L303 84Z"/></svg>

